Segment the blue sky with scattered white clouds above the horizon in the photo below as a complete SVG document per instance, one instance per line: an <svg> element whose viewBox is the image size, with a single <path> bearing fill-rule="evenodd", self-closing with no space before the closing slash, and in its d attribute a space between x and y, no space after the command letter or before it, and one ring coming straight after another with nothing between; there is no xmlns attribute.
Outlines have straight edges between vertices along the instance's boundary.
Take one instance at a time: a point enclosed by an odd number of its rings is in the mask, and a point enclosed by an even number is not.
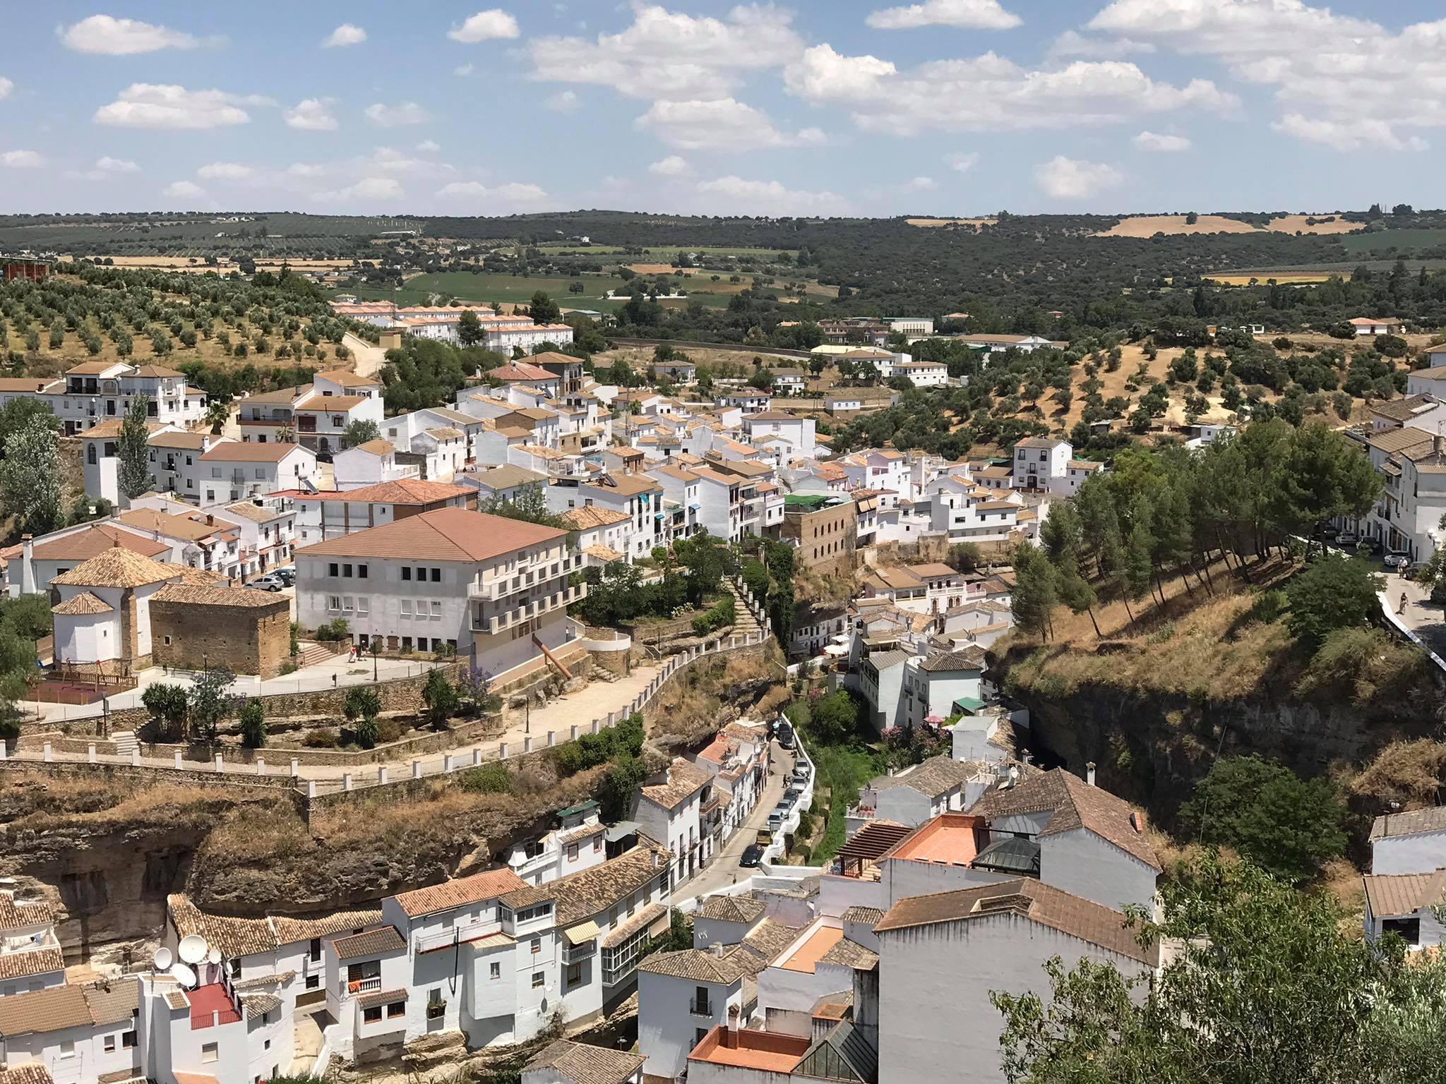
<svg viewBox="0 0 1446 1084"><path fill-rule="evenodd" d="M1442 202L1440 0L476 3L7 4L0 212Z"/></svg>

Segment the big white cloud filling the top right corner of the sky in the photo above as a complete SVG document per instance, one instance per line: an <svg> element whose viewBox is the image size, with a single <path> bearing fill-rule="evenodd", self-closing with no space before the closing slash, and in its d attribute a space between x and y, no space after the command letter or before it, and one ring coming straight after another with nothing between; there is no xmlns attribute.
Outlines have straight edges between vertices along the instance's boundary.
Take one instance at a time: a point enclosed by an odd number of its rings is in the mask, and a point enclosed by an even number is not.
<svg viewBox="0 0 1446 1084"><path fill-rule="evenodd" d="M1275 130L1309 143L1411 150L1424 146L1416 132L1446 127L1446 20L1392 33L1303 0L1112 0L1089 29L1216 58L1271 88Z"/></svg>

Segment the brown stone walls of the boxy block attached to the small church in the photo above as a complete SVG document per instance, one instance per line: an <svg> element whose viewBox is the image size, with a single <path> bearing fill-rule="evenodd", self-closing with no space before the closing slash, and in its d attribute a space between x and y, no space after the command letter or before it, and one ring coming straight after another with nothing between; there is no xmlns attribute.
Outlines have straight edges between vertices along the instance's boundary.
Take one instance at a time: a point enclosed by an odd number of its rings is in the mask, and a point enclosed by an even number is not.
<svg viewBox="0 0 1446 1084"><path fill-rule="evenodd" d="M201 669L224 662L236 674L275 678L291 650L291 604L150 603L150 652L158 666Z"/></svg>

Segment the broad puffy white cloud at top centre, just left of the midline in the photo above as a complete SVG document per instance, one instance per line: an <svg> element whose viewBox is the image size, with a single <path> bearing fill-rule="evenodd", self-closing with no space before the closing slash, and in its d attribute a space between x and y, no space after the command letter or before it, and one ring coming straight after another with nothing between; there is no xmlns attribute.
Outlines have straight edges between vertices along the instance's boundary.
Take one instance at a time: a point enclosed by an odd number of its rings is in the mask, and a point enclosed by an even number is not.
<svg viewBox="0 0 1446 1084"><path fill-rule="evenodd" d="M791 20L772 4L739 4L723 19L638 4L619 33L534 38L526 49L534 79L612 87L635 98L716 98L743 74L803 52Z"/></svg>

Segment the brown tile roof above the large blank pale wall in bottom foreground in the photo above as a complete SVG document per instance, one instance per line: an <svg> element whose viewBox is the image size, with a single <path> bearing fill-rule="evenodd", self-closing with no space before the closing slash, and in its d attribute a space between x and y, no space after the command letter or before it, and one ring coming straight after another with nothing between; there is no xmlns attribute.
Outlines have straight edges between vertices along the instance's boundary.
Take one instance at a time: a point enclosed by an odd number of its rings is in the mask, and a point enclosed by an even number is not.
<svg viewBox="0 0 1446 1084"><path fill-rule="evenodd" d="M873 929L885 935L898 929L1002 915L1038 922L1151 967L1160 960L1158 944L1141 948L1135 929L1125 925L1125 916L1118 911L1030 877L901 899Z"/></svg>

